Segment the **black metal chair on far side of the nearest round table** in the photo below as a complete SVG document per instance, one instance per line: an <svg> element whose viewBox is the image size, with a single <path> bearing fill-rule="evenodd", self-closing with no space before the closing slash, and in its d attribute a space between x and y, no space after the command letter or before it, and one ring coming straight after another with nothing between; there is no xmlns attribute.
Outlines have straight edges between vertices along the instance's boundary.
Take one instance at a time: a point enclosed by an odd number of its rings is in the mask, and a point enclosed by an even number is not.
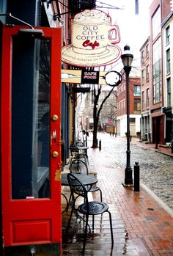
<svg viewBox="0 0 173 256"><path fill-rule="evenodd" d="M84 161L81 161L80 159L74 159L69 166L70 173L81 173L88 175L88 167L87 164L84 163ZM87 186L89 192L95 192L100 191L100 201L102 202L102 191L98 186Z"/></svg>

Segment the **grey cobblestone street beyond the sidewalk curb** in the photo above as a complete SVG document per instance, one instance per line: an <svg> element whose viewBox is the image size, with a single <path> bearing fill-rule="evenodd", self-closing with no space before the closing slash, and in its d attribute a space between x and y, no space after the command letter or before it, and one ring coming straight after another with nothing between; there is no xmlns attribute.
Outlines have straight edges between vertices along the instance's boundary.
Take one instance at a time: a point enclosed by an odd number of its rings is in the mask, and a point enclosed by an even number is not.
<svg viewBox="0 0 173 256"><path fill-rule="evenodd" d="M126 166L126 138L114 137L109 134L97 134L101 147L114 158L119 167ZM91 143L92 135L89 136ZM130 143L130 165L133 169L135 162L140 166L140 183L147 186L161 201L173 210L173 158L158 153L155 150L145 149Z"/></svg>

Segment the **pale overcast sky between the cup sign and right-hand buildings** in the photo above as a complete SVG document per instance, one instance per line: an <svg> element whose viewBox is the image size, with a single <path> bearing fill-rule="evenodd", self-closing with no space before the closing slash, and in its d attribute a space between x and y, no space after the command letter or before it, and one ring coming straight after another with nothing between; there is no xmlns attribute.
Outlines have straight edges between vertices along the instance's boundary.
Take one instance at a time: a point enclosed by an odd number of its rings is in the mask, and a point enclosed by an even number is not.
<svg viewBox="0 0 173 256"><path fill-rule="evenodd" d="M139 0L139 15L136 15L135 0L97 1L98 6L105 7L106 5L102 3L106 3L114 5L115 7L123 7L123 10L105 8L100 8L100 10L103 10L103 12L106 13L109 12L112 24L117 24L119 26L121 41L118 45L122 50L126 44L130 46L130 50L134 56L133 65L135 66L140 65L139 49L149 36L149 7L151 2L152 0ZM114 70L118 70L121 66L119 65L119 67L117 67L119 62L121 62L121 60L114 63L113 66L116 65Z"/></svg>

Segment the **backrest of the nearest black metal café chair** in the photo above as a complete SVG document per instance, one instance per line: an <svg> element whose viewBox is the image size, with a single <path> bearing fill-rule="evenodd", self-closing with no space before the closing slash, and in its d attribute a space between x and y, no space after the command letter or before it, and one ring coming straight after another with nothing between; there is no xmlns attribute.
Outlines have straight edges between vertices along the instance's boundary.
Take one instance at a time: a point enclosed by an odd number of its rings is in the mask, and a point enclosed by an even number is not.
<svg viewBox="0 0 173 256"><path fill-rule="evenodd" d="M87 189L85 188L81 180L76 178L76 176L73 175L73 173L68 173L67 179L70 186L71 195L73 197L73 203L75 204L76 201L75 194L84 197L84 199L88 202Z"/></svg>

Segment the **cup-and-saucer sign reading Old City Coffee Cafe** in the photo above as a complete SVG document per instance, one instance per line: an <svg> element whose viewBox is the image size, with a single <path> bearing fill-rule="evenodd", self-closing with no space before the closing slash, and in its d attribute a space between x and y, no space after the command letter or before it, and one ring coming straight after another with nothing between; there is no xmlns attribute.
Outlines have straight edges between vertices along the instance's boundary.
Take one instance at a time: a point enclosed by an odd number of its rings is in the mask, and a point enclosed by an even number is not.
<svg viewBox="0 0 173 256"><path fill-rule="evenodd" d="M100 10L84 10L71 20L72 44L62 47L62 61L78 67L99 67L121 56L119 27Z"/></svg>

